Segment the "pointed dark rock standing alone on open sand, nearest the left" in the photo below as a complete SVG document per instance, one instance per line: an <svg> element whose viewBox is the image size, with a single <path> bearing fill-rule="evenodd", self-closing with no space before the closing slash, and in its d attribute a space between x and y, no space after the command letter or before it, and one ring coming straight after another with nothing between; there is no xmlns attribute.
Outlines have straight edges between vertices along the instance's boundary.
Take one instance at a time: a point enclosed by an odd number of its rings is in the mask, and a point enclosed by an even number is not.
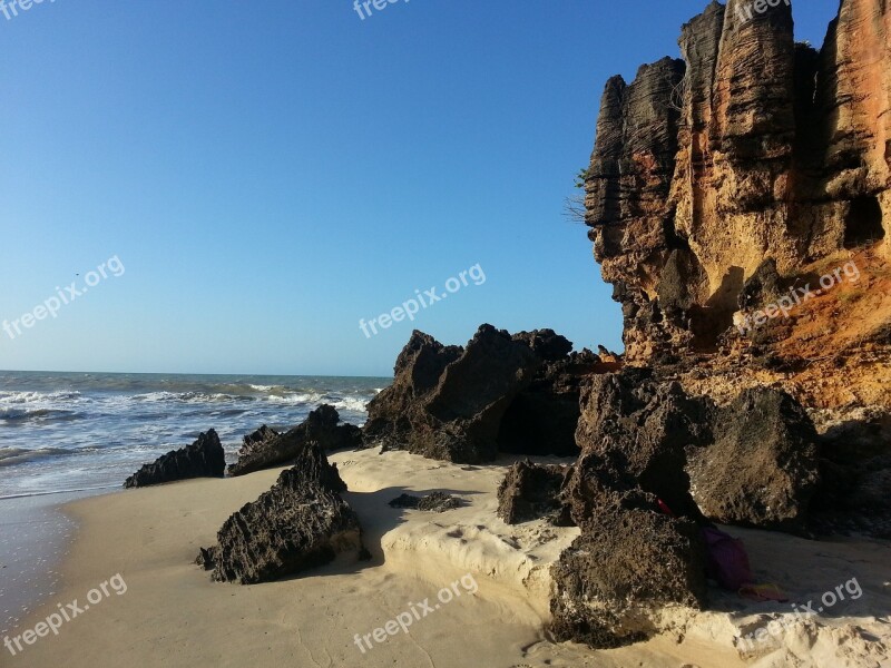
<svg viewBox="0 0 891 668"><path fill-rule="evenodd" d="M322 566L341 552L364 558L359 519L343 491L336 466L309 442L294 468L226 520L217 544L202 548L196 561L216 581L254 584Z"/></svg>

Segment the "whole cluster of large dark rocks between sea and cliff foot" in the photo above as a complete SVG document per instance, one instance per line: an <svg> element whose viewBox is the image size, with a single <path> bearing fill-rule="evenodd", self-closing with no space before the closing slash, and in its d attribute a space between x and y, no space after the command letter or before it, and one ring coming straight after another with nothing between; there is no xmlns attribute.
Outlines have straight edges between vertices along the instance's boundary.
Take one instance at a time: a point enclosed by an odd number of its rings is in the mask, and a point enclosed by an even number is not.
<svg viewBox="0 0 891 668"><path fill-rule="evenodd" d="M575 454L578 383L603 364L571 348L551 330L482 325L463 348L415 331L369 404L365 442L469 464L499 451Z"/></svg>

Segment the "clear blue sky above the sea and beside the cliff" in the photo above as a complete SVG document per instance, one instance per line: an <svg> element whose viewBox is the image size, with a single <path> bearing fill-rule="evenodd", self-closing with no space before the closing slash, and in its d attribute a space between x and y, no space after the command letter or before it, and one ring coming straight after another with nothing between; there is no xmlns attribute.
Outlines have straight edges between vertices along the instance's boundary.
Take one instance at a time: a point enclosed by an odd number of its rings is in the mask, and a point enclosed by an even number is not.
<svg viewBox="0 0 891 668"><path fill-rule="evenodd" d="M705 0L46 0L0 14L0 369L390 374L412 327L620 348L564 199L606 79ZM796 9L819 46L833 0ZM366 338L370 320L480 264ZM80 274L80 277L76 275ZM63 287L62 287L63 289Z"/></svg>

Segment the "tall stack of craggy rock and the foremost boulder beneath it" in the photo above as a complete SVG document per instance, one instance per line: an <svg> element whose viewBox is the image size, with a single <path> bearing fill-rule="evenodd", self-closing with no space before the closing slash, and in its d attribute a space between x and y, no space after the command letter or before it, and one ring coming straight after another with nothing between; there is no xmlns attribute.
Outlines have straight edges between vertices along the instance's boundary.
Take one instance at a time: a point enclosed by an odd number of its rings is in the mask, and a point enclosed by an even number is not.
<svg viewBox="0 0 891 668"><path fill-rule="evenodd" d="M582 391L581 455L561 502L581 534L551 570L551 632L616 647L666 630L667 606L705 601L699 509L686 448L712 440L714 406L645 370L594 376Z"/></svg>

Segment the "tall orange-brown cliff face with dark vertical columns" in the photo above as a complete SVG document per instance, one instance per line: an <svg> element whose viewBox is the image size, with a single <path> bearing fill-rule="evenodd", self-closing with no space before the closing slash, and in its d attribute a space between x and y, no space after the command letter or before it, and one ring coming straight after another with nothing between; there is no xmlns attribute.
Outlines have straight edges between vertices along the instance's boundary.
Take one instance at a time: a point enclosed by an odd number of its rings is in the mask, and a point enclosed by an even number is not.
<svg viewBox="0 0 891 668"><path fill-rule="evenodd" d="M820 52L794 42L784 2L751 18L750 4L712 2L683 27L683 60L606 85L586 222L623 306L626 361L797 355L797 372L806 341L887 362L891 2L842 0ZM850 262L863 294L800 303L796 286ZM768 302L765 273L794 313L734 327ZM852 330L858 304L869 326Z"/></svg>

